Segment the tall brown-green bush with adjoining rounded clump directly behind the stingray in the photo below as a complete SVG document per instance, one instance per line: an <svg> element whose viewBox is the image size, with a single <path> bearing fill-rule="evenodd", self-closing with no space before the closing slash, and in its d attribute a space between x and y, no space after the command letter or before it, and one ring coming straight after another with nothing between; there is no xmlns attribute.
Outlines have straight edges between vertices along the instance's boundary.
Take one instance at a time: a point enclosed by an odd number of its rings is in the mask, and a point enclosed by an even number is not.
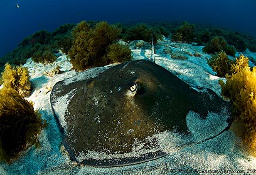
<svg viewBox="0 0 256 175"><path fill-rule="evenodd" d="M115 42L120 39L121 29L107 22L98 22L90 28L86 21L73 29L73 44L68 51L73 68L83 71L108 63L128 61L131 59L129 47Z"/></svg>

